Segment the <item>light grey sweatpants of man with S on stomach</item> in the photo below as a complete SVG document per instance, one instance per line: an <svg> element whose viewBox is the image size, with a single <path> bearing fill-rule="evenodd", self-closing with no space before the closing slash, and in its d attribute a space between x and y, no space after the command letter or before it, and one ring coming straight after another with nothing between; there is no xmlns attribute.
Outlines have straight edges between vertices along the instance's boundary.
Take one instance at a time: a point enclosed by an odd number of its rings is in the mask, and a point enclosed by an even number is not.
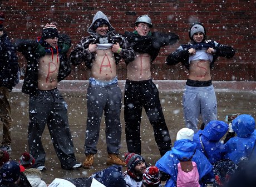
<svg viewBox="0 0 256 187"><path fill-rule="evenodd" d="M217 99L213 85L209 87L185 86L183 112L186 127L198 132L199 116L208 124L217 119Z"/></svg>

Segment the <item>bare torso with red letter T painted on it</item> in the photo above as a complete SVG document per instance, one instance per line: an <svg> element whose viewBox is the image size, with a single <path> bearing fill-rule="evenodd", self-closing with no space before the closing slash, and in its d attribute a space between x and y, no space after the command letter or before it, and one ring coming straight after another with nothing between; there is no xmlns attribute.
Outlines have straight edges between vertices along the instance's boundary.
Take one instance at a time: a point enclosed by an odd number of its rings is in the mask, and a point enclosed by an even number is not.
<svg viewBox="0 0 256 187"><path fill-rule="evenodd" d="M147 53L136 53L134 61L127 65L127 79L129 80L149 80L151 78L150 55Z"/></svg>

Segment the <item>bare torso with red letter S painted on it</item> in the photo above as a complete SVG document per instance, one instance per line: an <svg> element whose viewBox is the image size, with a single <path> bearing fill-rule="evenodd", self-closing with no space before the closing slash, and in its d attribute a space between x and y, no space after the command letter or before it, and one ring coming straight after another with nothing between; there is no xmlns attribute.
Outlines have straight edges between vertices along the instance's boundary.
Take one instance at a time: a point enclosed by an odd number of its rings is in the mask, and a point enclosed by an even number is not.
<svg viewBox="0 0 256 187"><path fill-rule="evenodd" d="M207 81L211 80L210 60L193 60L190 62L188 79Z"/></svg>

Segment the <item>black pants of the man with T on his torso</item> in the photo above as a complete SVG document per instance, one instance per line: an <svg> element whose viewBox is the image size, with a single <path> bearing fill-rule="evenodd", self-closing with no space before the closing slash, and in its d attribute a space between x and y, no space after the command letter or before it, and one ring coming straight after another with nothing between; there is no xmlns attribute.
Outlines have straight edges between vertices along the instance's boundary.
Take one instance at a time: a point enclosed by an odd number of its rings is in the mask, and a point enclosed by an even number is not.
<svg viewBox="0 0 256 187"><path fill-rule="evenodd" d="M142 107L154 129L156 144L163 156L171 149L171 139L166 126L159 92L152 80L131 81L125 84L125 133L130 153L141 154L140 123Z"/></svg>

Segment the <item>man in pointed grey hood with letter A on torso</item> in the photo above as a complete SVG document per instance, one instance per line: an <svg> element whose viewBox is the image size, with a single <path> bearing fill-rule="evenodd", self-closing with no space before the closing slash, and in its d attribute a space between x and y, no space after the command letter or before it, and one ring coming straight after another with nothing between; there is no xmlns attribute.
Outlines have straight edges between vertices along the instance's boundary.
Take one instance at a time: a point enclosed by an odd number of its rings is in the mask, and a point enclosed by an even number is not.
<svg viewBox="0 0 256 187"><path fill-rule="evenodd" d="M117 83L116 65L121 58L133 60L135 53L127 40L115 32L101 11L95 14L87 31L90 36L83 38L70 54L72 64L85 62L86 67L91 69L87 88L86 159L83 168L88 169L93 165L103 113L106 122L107 164L125 165L118 156L122 134L122 94Z"/></svg>

